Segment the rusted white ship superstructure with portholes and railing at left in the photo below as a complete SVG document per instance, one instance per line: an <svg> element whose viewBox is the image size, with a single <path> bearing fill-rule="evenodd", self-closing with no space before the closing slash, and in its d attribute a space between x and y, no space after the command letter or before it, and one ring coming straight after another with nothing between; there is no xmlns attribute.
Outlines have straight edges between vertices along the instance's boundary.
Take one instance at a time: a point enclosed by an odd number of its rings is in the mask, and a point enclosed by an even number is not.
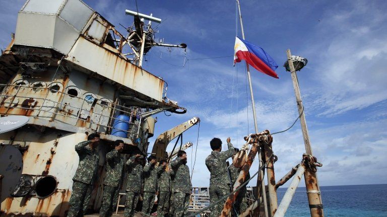
<svg viewBox="0 0 387 217"><path fill-rule="evenodd" d="M146 154L155 125L151 115L186 112L166 97L162 78L139 67L140 58L137 65L127 58L127 46L133 46L128 37L80 0L28 0L22 7L0 57L0 115L30 119L0 134L2 145L22 152L24 165L18 188L2 203L6 215L64 216L79 162L77 143L100 133L103 177L113 141L122 139L127 152ZM129 118L128 128L119 130L126 138L112 135L119 115ZM94 210L102 181L94 186Z"/></svg>

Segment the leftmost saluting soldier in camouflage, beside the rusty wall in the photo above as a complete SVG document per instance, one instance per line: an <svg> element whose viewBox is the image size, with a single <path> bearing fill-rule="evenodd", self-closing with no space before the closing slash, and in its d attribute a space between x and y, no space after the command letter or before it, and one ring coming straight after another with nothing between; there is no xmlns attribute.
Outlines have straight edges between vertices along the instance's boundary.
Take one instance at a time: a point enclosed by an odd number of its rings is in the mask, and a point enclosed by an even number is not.
<svg viewBox="0 0 387 217"><path fill-rule="evenodd" d="M92 133L88 141L78 143L75 151L79 155L79 165L73 177L73 192L69 201L68 217L83 216L89 205L94 181L97 179L99 155L96 147L99 144L99 135Z"/></svg>

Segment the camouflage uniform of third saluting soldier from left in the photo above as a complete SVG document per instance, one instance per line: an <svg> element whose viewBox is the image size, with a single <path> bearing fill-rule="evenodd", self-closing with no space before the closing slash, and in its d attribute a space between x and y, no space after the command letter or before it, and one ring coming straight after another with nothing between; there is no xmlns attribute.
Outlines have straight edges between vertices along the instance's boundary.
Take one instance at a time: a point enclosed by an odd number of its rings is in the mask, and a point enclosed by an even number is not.
<svg viewBox="0 0 387 217"><path fill-rule="evenodd" d="M135 208L139 201L143 178L143 166L136 162L136 156L132 156L126 161L126 168L126 200L123 215L125 217L131 217L134 216Z"/></svg>

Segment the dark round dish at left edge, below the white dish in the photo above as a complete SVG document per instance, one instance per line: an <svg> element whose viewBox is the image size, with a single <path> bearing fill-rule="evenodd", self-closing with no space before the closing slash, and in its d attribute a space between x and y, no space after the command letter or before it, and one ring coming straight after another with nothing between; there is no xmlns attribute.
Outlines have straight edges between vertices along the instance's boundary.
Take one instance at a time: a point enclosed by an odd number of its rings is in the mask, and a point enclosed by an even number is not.
<svg viewBox="0 0 387 217"><path fill-rule="evenodd" d="M20 151L11 145L0 145L0 175L2 179L2 197L3 202L11 196L16 184L18 184L23 170L23 158Z"/></svg>

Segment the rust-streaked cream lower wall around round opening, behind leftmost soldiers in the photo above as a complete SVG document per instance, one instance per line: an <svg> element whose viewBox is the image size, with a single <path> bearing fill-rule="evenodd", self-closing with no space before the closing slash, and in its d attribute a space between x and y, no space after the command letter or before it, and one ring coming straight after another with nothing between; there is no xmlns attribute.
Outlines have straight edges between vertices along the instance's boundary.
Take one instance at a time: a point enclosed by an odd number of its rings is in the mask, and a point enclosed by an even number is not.
<svg viewBox="0 0 387 217"><path fill-rule="evenodd" d="M9 132L0 135L0 141L8 144L11 135ZM55 215L65 216L69 208L69 199L72 193L73 176L77 170L79 157L75 151L75 145L85 141L85 133L69 133L61 135L60 131L40 134L34 128L18 131L13 144L19 144L26 149L23 154L23 174L46 176L51 175L57 181L56 189L47 197L9 197L2 202L2 211L5 214L24 215ZM102 197L102 185L100 182L104 173L105 155L107 146L101 141L98 147L100 155L99 180L93 191L93 203L100 204Z"/></svg>

